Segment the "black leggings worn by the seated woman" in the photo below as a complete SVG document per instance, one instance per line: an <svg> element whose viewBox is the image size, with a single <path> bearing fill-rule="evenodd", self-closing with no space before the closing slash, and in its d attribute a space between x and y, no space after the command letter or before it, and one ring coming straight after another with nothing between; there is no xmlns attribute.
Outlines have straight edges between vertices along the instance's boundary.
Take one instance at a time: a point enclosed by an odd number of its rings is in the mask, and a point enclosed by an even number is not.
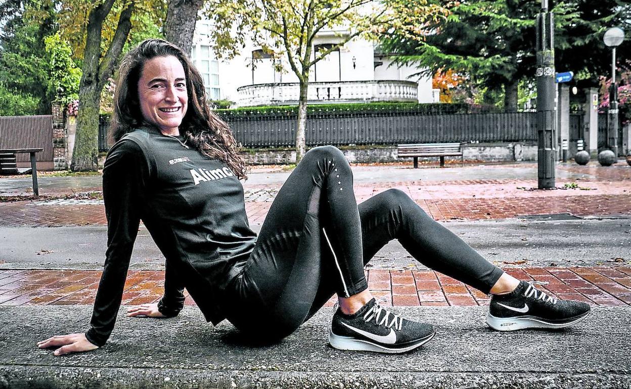
<svg viewBox="0 0 631 389"><path fill-rule="evenodd" d="M333 293L367 289L363 266L392 239L423 265L485 293L503 273L401 190L357 205L344 154L322 146L305 154L278 192L223 310L244 332L285 337Z"/></svg>

